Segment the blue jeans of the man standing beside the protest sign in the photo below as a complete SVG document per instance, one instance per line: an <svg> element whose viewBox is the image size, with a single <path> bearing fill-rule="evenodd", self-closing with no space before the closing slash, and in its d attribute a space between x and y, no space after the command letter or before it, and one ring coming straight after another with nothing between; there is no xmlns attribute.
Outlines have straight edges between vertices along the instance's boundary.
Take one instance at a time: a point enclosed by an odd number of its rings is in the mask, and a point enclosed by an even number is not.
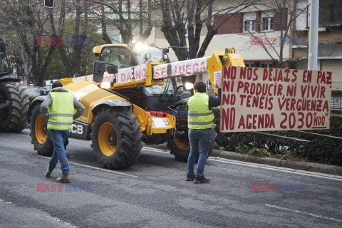
<svg viewBox="0 0 342 228"><path fill-rule="evenodd" d="M187 158L187 173L194 175L195 160L199 154L197 163L197 176L204 176L204 165L207 162L210 146L210 130L189 129L190 154Z"/></svg>

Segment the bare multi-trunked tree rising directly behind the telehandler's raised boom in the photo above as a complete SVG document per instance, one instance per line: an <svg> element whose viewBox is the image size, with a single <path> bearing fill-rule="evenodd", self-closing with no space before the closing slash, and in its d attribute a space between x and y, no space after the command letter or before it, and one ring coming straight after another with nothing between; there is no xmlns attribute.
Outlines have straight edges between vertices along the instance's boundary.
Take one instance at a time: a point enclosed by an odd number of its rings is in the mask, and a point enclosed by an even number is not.
<svg viewBox="0 0 342 228"><path fill-rule="evenodd" d="M214 0L156 0L162 11L160 28L170 46L187 46L189 43L190 58L204 56L209 43L225 21L234 14L246 9L256 1L232 1L230 6L214 11ZM222 17L224 19L222 20ZM214 17L217 16L216 21ZM217 21L220 20L220 23ZM187 25L187 27L186 27ZM200 43L202 28L206 26L207 33ZM186 37L187 31L187 37ZM174 48L178 60L187 58L184 50Z"/></svg>

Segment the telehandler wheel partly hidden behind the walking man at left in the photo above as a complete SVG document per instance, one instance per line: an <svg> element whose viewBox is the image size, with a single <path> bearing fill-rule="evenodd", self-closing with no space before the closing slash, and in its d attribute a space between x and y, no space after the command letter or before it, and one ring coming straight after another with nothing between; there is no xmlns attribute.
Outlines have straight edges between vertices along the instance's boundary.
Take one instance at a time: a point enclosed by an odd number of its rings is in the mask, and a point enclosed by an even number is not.
<svg viewBox="0 0 342 228"><path fill-rule="evenodd" d="M31 143L38 155L51 157L53 143L50 130L47 129L46 120L41 115L41 103L36 104L31 111Z"/></svg>

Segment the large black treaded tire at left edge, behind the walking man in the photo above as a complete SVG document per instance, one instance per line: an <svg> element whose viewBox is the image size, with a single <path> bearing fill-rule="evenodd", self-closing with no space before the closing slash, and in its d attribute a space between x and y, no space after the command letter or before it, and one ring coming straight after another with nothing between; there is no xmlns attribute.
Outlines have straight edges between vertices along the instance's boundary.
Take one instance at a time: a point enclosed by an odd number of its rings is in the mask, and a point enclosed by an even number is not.
<svg viewBox="0 0 342 228"><path fill-rule="evenodd" d="M28 94L18 82L0 83L0 103L9 102L0 110L0 130L19 133L27 125Z"/></svg>

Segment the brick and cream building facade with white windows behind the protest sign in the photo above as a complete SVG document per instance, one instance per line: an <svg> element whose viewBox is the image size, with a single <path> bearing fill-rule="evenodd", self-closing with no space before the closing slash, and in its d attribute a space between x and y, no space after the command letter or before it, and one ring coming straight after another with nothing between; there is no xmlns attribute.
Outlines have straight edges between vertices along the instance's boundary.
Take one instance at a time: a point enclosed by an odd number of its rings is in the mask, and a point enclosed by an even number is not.
<svg viewBox="0 0 342 228"><path fill-rule="evenodd" d="M226 9L229 2L214 1L214 9ZM237 13L214 14L212 21L219 29L205 56L232 46L242 55L246 66L307 69L309 0L265 0ZM342 0L320 1L318 21L318 70L333 71L331 105L342 110ZM205 34L202 29L201 40ZM158 29L155 45L169 46ZM172 52L170 58L177 61Z"/></svg>

